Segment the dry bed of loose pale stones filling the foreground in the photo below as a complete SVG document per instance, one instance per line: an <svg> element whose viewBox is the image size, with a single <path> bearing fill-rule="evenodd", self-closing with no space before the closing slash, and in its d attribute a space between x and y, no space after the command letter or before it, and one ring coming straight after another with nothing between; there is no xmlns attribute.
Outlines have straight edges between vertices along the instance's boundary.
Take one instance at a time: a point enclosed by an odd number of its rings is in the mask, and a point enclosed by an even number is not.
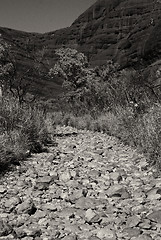
<svg viewBox="0 0 161 240"><path fill-rule="evenodd" d="M73 131L0 179L0 239L161 240L161 178L117 139Z"/></svg>

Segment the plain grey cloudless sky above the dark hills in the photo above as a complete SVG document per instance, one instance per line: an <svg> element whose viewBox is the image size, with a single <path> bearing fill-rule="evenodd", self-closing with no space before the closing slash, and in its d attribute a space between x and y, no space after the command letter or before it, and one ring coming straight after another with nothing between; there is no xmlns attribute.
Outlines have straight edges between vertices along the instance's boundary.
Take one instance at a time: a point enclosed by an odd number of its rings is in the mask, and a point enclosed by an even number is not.
<svg viewBox="0 0 161 240"><path fill-rule="evenodd" d="M71 23L96 0L0 0L0 26L49 32Z"/></svg>

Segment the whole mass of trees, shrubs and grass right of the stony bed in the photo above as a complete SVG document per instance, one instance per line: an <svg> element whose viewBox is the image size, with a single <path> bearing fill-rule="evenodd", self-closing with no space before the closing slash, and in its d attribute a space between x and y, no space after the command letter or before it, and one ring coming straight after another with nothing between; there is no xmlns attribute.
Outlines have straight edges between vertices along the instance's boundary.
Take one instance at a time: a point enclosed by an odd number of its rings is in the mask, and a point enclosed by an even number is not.
<svg viewBox="0 0 161 240"><path fill-rule="evenodd" d="M76 50L56 53L59 60L50 74L64 77L68 93L53 113L54 122L114 135L161 168L160 68L121 70L112 61L91 68Z"/></svg>

